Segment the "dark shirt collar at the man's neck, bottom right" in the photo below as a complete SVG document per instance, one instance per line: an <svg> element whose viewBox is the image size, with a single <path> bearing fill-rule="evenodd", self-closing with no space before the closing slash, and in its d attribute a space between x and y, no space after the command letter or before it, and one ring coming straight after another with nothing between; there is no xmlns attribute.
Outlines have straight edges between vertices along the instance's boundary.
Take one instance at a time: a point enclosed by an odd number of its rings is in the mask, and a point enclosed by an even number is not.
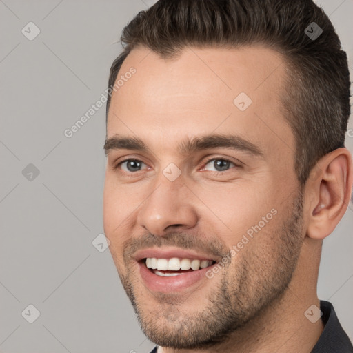
<svg viewBox="0 0 353 353"><path fill-rule="evenodd" d="M321 320L325 328L310 353L353 353L352 343L339 323L332 304L320 301L320 310L323 312ZM157 347L150 353L157 353Z"/></svg>

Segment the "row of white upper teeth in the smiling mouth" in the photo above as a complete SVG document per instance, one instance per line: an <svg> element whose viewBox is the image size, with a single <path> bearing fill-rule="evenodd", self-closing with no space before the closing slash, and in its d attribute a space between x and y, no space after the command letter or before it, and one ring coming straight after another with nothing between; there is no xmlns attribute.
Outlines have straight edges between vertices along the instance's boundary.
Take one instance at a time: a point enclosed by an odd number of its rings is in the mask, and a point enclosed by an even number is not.
<svg viewBox="0 0 353 353"><path fill-rule="evenodd" d="M212 260L190 260L190 259L178 259L177 257L173 257L172 259L156 259L155 257L148 257L146 259L146 266L148 268L152 268L153 270L199 270L199 268L207 268L212 265Z"/></svg>

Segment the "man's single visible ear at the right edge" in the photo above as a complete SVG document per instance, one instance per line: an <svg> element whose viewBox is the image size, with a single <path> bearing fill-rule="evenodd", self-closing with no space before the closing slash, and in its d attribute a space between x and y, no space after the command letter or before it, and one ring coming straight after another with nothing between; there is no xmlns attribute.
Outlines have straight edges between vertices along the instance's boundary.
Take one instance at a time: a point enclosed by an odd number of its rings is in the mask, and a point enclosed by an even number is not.
<svg viewBox="0 0 353 353"><path fill-rule="evenodd" d="M352 156L347 148L325 154L316 163L305 187L307 236L324 239L336 228L350 204L352 173Z"/></svg>

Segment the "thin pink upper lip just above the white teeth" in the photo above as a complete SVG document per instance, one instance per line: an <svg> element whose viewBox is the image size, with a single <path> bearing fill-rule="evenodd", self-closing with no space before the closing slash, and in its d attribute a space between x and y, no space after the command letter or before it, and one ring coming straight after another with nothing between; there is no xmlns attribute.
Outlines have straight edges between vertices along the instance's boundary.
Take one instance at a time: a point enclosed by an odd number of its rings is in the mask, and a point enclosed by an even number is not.
<svg viewBox="0 0 353 353"><path fill-rule="evenodd" d="M136 261L141 261L148 257L156 257L157 259L172 259L173 257L179 257L179 259L197 259L197 260L212 260L219 262L220 259L205 254L202 252L193 252L190 250L183 250L179 248L149 248L145 250L139 250L134 254Z"/></svg>

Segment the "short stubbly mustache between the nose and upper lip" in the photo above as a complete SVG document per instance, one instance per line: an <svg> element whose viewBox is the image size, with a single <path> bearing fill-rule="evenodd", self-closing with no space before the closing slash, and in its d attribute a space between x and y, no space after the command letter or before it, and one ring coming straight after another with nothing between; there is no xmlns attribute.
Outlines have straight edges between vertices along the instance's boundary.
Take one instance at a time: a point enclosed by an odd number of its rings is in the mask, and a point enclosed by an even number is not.
<svg viewBox="0 0 353 353"><path fill-rule="evenodd" d="M217 236L186 234L183 232L170 232L163 236L151 233L141 234L137 238L131 238L123 243L123 258L125 261L131 260L133 254L138 250L146 248L176 247L183 250L194 250L195 252L205 252L218 257L224 257L230 249L222 243Z"/></svg>

